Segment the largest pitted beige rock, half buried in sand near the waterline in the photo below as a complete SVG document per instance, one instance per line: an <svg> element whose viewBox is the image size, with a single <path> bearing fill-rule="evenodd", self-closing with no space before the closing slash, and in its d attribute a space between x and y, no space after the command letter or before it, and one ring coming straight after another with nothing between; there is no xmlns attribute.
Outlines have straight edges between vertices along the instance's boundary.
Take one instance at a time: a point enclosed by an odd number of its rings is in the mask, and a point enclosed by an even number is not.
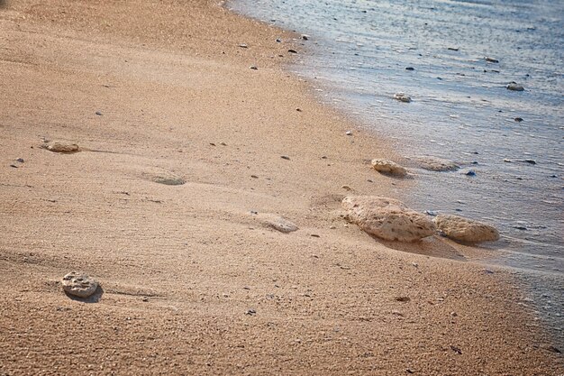
<svg viewBox="0 0 564 376"><path fill-rule="evenodd" d="M350 196L342 200L346 218L384 240L415 242L435 233L435 225L425 215L393 198Z"/></svg>

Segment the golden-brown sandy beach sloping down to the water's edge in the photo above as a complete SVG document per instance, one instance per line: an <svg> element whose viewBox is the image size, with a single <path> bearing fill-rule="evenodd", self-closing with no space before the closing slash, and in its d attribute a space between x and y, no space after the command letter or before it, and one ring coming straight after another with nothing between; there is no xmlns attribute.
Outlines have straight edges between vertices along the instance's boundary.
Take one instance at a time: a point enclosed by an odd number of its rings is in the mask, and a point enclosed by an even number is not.
<svg viewBox="0 0 564 376"><path fill-rule="evenodd" d="M207 0L0 2L0 375L564 373L492 251L342 218L416 181L290 49Z"/></svg>

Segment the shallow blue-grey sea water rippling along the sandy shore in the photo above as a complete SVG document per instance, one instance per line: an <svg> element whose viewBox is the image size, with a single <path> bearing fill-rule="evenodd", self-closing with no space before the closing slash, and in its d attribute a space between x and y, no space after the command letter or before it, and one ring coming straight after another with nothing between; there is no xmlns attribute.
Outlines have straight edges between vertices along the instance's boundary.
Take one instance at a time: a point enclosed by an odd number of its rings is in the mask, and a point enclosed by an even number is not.
<svg viewBox="0 0 564 376"><path fill-rule="evenodd" d="M399 154L459 162L457 171L415 169L416 188L398 198L495 225L503 236L486 245L499 254L490 262L536 280L536 304L562 336L564 1L237 0L228 7L309 35L291 69ZM508 90L511 82L524 90ZM395 100L398 92L412 102Z"/></svg>

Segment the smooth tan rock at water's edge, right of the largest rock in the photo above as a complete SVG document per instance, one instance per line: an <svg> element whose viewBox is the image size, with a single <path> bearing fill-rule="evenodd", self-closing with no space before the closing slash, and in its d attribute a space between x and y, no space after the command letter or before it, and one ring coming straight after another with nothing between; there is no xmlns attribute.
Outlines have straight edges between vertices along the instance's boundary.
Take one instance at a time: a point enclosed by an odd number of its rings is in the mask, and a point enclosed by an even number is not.
<svg viewBox="0 0 564 376"><path fill-rule="evenodd" d="M455 241L480 243L499 239L496 227L461 216L439 215L434 222L442 234Z"/></svg>

